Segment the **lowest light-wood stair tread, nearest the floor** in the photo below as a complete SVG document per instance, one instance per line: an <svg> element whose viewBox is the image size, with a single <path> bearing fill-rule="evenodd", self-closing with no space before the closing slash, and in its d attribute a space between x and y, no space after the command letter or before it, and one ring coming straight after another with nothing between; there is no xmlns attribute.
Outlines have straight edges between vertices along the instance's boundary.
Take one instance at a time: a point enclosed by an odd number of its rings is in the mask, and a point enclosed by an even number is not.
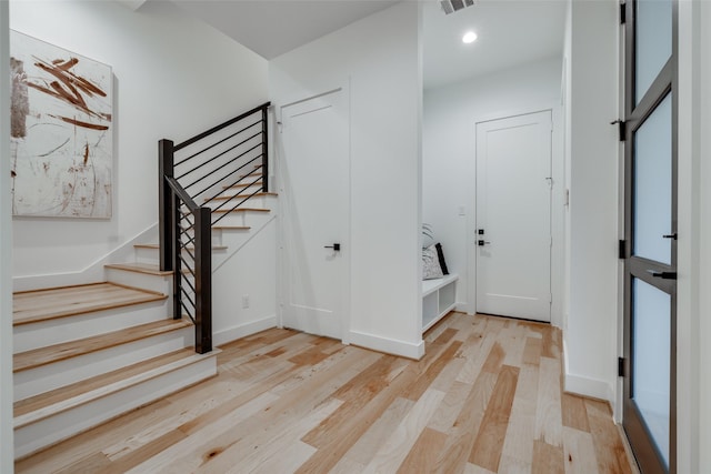
<svg viewBox="0 0 711 474"><path fill-rule="evenodd" d="M179 365L180 361L186 361L196 355L191 347L181 349L158 357L149 359L127 367L122 367L106 374L62 386L60 389L44 392L29 399L14 402L14 427L21 427L29 423L37 422L49 414L56 414L59 411L68 410L80 403L86 403L90 399L96 399L106 394L111 387L116 390L116 385L126 387L129 381L136 382L137 379L146 379L146 374L156 372L156 370L164 366Z"/></svg>

